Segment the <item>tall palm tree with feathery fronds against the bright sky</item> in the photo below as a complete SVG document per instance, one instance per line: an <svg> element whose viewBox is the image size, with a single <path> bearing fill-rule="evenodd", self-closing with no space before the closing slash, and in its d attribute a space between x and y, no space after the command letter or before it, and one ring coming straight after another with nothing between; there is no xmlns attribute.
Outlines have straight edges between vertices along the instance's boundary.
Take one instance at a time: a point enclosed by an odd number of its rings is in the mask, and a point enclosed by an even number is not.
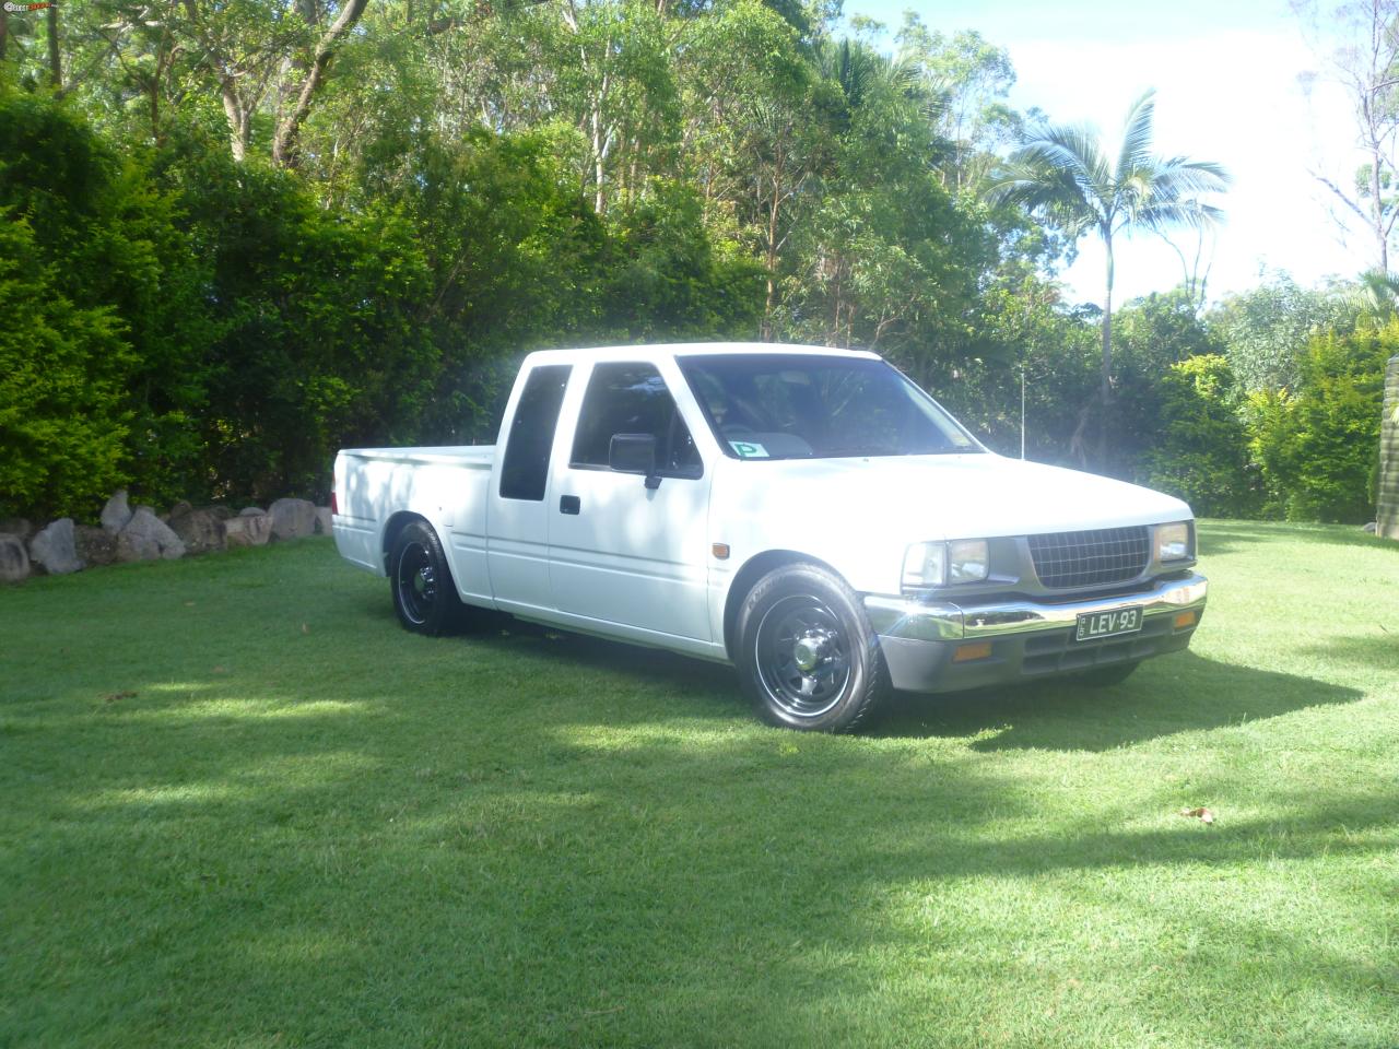
<svg viewBox="0 0 1399 1049"><path fill-rule="evenodd" d="M1219 164L1151 152L1156 92L1147 91L1128 110L1116 164L1093 131L1080 126L1045 126L992 175L989 196L1023 204L1077 241L1095 232L1107 250L1102 301L1102 425L1098 460L1107 449L1108 401L1112 397L1112 241L1133 229L1165 234L1181 227L1217 222L1223 213L1206 204L1205 193L1230 183Z"/></svg>

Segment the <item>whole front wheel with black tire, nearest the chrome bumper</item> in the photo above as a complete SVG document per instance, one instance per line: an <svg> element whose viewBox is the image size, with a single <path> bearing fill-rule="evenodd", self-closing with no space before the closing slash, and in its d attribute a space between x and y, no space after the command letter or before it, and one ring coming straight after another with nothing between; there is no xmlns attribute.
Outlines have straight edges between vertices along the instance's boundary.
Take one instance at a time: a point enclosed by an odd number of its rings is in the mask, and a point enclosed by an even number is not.
<svg viewBox="0 0 1399 1049"><path fill-rule="evenodd" d="M734 636L743 691L768 725L853 732L890 692L865 604L818 565L762 576L739 608Z"/></svg>

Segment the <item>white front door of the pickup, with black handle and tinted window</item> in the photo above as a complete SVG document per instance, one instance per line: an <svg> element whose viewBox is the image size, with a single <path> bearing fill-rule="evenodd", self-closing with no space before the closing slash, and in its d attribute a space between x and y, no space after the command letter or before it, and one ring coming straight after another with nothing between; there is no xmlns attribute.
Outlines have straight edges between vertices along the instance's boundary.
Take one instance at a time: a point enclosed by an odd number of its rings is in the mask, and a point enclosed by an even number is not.
<svg viewBox="0 0 1399 1049"><path fill-rule="evenodd" d="M656 473L609 466L617 434L652 435ZM564 436L564 435L561 435ZM595 364L550 492L550 583L561 613L712 641L709 478L656 365ZM659 484L656 480L659 478Z"/></svg>

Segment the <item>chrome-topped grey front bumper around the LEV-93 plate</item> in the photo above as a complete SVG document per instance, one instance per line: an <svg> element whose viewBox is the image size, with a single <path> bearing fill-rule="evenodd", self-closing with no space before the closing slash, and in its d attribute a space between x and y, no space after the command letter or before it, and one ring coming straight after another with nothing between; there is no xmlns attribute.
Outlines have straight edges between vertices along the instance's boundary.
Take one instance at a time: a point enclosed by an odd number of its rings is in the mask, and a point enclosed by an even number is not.
<svg viewBox="0 0 1399 1049"><path fill-rule="evenodd" d="M870 596L865 608L880 635L895 688L942 692L1178 652L1189 645L1199 625L1207 589L1205 576L1191 573L1158 580L1139 593L1079 601L1020 599L954 604ZM1074 639L1080 615L1121 608L1142 608L1140 632ZM1179 625L1175 617L1192 610L1198 614ZM972 659L960 662L957 649L968 642L990 642L990 655L972 653Z"/></svg>

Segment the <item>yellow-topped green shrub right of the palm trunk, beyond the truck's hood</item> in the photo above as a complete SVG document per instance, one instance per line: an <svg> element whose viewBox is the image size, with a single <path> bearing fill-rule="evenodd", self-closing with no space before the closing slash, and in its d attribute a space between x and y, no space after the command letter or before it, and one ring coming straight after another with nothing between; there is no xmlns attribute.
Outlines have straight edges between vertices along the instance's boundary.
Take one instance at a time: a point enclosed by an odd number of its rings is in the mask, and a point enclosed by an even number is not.
<svg viewBox="0 0 1399 1049"><path fill-rule="evenodd" d="M1258 478L1228 361L1202 354L1174 364L1157 396L1160 438L1143 456L1143 483L1178 495L1203 518L1255 516Z"/></svg>

